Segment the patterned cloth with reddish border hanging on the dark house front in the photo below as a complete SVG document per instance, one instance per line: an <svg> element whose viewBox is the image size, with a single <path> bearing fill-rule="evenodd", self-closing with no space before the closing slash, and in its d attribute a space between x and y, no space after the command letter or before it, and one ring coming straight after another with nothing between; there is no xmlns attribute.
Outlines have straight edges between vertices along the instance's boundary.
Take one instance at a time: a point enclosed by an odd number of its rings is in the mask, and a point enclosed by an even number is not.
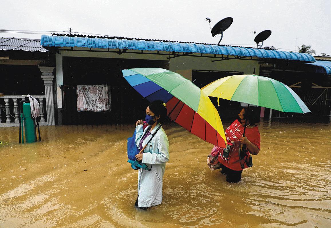
<svg viewBox="0 0 331 228"><path fill-rule="evenodd" d="M111 92L108 85L77 85L77 112L110 111Z"/></svg>

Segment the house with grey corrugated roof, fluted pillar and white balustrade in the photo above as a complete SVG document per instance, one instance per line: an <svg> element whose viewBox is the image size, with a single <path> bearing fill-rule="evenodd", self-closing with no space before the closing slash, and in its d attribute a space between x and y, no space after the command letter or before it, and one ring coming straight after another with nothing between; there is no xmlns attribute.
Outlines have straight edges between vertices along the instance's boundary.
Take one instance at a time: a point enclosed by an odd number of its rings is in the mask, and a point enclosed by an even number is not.
<svg viewBox="0 0 331 228"><path fill-rule="evenodd" d="M40 102L40 125L55 124L54 94L45 93L52 84L46 71L54 65L55 54L40 40L0 37L0 126L19 126L19 103L27 94Z"/></svg>

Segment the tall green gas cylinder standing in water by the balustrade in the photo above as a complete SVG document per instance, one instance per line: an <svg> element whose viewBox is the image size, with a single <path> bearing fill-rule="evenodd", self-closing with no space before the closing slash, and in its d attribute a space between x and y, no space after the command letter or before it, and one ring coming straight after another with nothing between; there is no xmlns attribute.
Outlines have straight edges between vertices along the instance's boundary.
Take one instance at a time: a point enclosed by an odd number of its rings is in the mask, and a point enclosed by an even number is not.
<svg viewBox="0 0 331 228"><path fill-rule="evenodd" d="M30 103L23 103L23 118L24 118L24 131L25 142L34 143L37 142L37 134L35 127L35 120L31 115Z"/></svg>

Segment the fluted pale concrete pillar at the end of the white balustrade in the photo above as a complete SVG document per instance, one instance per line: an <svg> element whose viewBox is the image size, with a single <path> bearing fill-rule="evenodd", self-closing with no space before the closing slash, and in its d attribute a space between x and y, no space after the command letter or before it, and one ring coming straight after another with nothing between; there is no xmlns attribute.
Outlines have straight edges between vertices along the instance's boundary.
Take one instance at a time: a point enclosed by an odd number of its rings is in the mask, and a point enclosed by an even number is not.
<svg viewBox="0 0 331 228"><path fill-rule="evenodd" d="M45 98L46 98L46 112L47 112L47 125L55 125L54 115L54 97L53 97L53 71L54 67L38 67L42 72L41 78L44 80L45 85Z"/></svg>

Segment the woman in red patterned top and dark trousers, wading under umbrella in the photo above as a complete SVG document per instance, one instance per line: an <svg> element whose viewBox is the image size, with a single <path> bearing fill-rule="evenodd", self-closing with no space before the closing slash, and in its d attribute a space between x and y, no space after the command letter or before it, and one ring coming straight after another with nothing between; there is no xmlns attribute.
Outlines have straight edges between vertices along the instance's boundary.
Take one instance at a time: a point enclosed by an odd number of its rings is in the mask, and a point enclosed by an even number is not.
<svg viewBox="0 0 331 228"><path fill-rule="evenodd" d="M260 122L259 115L253 109L247 107L242 109L238 116L225 130L228 150L218 147L218 161L221 163L221 173L226 175L226 181L230 183L238 182L241 179L243 169L248 168L246 160L248 161L250 154L257 155L260 151L260 132L256 125L256 123ZM245 119L247 119L247 125L245 137L243 137ZM244 159L239 158L240 144L245 144L248 149ZM229 148L229 146L231 147Z"/></svg>

